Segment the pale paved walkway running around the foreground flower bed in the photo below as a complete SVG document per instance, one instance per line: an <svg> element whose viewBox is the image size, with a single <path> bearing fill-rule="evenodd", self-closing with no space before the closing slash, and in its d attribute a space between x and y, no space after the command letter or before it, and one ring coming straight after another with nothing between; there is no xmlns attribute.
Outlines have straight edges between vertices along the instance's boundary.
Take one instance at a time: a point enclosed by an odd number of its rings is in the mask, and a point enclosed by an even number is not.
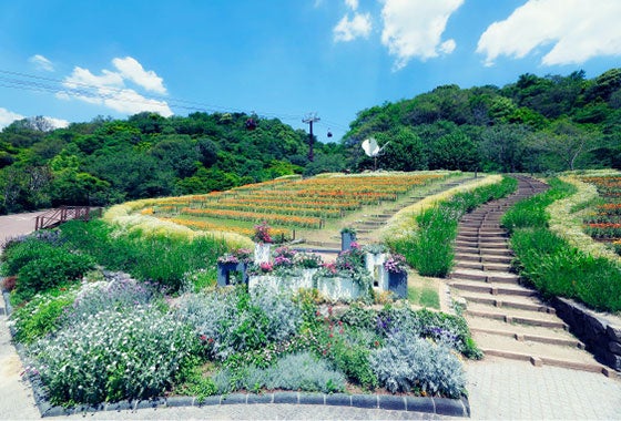
<svg viewBox="0 0 621 421"><path fill-rule="evenodd" d="M0 216L0 242L33 229L35 214ZM29 384L10 342L4 302L0 300L0 419L40 419ZM621 381L599 373L487 357L467 361L471 418L477 420L621 420ZM83 419L82 414L61 419ZM428 413L298 404L232 404L203 408L142 409L95 412L100 420L287 419L405 420L447 419Z"/></svg>

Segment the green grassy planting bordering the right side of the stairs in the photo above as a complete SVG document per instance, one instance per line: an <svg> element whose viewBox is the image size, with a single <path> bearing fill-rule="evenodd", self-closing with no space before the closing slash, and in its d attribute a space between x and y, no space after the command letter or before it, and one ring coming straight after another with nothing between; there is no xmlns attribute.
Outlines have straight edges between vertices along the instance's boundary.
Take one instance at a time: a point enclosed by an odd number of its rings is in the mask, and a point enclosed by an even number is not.
<svg viewBox="0 0 621 421"><path fill-rule="evenodd" d="M576 188L559 179L551 188L518 203L502 218L511 229L511 248L520 275L544 296L582 301L602 311L621 311L621 266L593 257L548 229L546 208Z"/></svg>

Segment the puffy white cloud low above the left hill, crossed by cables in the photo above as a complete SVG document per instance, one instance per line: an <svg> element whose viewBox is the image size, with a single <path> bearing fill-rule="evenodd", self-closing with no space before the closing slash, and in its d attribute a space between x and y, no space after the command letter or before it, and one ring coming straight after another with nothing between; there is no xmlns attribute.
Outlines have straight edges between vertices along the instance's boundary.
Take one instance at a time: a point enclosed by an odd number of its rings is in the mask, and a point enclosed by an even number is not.
<svg viewBox="0 0 621 421"><path fill-rule="evenodd" d="M146 97L125 85L125 82L132 82L146 91L166 93L162 78L154 71L145 71L142 64L131 57L113 59L112 64L116 72L103 69L100 75L75 66L71 75L63 81L67 91L57 96L103 105L126 114L152 111L166 117L173 115L166 101Z"/></svg>

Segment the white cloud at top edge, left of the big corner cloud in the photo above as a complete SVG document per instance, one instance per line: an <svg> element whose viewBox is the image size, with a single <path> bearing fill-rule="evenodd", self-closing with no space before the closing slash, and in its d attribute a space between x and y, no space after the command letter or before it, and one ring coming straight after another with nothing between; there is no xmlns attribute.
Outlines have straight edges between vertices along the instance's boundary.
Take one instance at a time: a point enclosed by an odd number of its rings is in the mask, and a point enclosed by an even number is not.
<svg viewBox="0 0 621 421"><path fill-rule="evenodd" d="M451 53L455 40L442 41L441 35L448 18L462 3L464 0L385 0L381 43L396 57L395 70L414 58L425 61Z"/></svg>

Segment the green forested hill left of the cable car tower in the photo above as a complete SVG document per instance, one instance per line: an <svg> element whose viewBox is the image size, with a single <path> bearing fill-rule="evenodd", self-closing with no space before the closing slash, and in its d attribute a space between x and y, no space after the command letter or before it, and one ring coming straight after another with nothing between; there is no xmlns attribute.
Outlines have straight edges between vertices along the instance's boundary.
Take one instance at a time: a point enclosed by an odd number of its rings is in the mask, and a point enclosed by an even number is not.
<svg viewBox="0 0 621 421"><path fill-rule="evenodd" d="M41 117L14 122L0 133L0 213L203 193L345 168L340 146L315 143L309 163L304 131L256 116L256 127L248 127L248 119L141 113L58 130Z"/></svg>

